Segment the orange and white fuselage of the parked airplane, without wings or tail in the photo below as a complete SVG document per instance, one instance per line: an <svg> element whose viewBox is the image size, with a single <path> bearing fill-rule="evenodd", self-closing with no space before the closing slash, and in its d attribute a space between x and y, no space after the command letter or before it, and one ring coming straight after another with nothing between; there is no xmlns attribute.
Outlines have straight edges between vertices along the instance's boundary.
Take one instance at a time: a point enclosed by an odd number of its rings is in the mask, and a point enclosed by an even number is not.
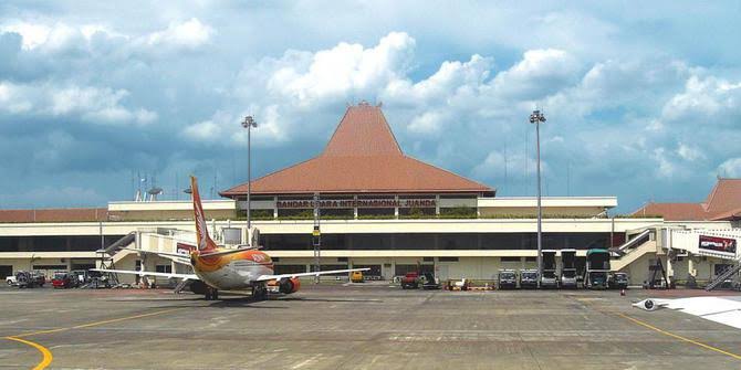
<svg viewBox="0 0 741 370"><path fill-rule="evenodd" d="M222 249L209 252L226 251ZM262 275L273 274L273 262L260 251L244 251L222 256L200 256L190 254L194 272L207 285L216 289L238 290L253 286Z"/></svg>

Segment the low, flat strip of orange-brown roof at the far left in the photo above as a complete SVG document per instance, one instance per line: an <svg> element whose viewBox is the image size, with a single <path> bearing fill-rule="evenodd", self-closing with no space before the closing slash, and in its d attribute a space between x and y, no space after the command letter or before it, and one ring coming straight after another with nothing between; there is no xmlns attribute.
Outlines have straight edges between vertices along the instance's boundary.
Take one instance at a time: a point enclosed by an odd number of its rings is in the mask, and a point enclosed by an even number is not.
<svg viewBox="0 0 741 370"><path fill-rule="evenodd" d="M65 208L46 210L0 210L0 223L11 222L94 222L106 221L105 208Z"/></svg>

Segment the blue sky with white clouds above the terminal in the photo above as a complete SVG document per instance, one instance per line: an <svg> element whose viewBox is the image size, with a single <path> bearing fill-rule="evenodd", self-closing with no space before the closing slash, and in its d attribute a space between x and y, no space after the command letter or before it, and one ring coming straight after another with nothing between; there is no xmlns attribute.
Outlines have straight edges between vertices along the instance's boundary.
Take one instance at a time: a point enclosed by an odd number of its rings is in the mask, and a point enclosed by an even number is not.
<svg viewBox="0 0 741 370"><path fill-rule="evenodd" d="M347 104L403 149L619 212L741 177L739 2L0 3L0 208L103 205L136 173L227 189L316 155ZM207 192L210 192L207 190Z"/></svg>

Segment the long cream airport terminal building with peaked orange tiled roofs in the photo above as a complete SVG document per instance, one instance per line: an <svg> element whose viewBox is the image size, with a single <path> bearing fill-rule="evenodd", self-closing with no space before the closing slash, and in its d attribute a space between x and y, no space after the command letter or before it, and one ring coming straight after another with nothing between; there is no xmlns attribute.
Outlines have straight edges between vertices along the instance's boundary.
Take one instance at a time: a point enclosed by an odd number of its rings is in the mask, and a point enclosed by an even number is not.
<svg viewBox="0 0 741 370"><path fill-rule="evenodd" d="M247 189L238 184L220 193L223 200L203 203L211 233L226 245L248 240ZM712 193L707 204L647 204L625 218L608 216L615 197L545 197L543 249L576 250L578 268L587 250L610 250L610 268L627 272L634 284L659 261L679 283L710 281L738 264L741 180L721 179ZM406 156L380 107L365 103L348 107L320 155L253 180L250 204L276 273L310 271L316 251L322 269L369 267L368 275L384 279L420 267L442 279L492 279L500 268L536 267L535 198L497 197L494 188ZM667 211L679 208L695 213ZM0 275L101 263L184 272L169 260L118 247L181 252L194 244L192 230L189 201L4 210ZM712 241L727 247L712 249Z"/></svg>

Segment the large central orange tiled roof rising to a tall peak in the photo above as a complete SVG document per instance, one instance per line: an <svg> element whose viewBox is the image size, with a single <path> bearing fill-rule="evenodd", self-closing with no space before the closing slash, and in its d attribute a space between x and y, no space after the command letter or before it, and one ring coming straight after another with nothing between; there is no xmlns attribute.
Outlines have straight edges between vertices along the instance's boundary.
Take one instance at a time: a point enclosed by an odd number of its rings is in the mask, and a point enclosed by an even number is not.
<svg viewBox="0 0 741 370"><path fill-rule="evenodd" d="M456 193L494 190L404 155L380 107L347 108L324 151L252 181L253 194ZM247 183L221 192L247 193Z"/></svg>

